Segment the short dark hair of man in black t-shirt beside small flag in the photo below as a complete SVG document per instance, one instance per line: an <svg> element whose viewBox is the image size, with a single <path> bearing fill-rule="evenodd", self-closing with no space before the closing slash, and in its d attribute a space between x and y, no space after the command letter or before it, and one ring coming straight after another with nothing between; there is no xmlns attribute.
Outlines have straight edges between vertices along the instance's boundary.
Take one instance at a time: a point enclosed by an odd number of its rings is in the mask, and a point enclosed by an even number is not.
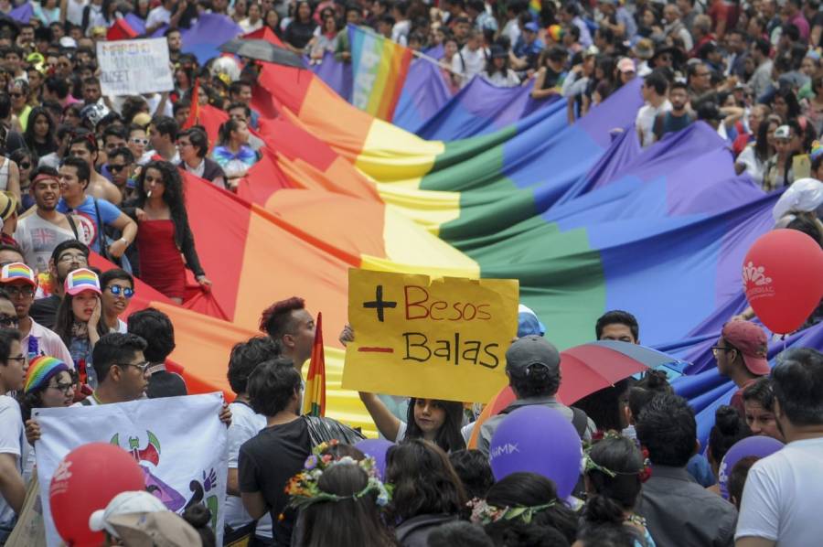
<svg viewBox="0 0 823 547"><path fill-rule="evenodd" d="M301 382L292 359L263 361L249 375L247 394L251 409L263 416L282 412L295 394L299 396Z"/></svg>

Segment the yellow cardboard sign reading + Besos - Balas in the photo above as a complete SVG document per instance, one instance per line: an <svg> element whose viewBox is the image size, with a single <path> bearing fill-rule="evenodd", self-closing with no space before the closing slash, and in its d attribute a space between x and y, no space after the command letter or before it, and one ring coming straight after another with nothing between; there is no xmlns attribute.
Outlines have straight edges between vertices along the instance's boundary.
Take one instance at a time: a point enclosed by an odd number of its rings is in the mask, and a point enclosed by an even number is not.
<svg viewBox="0 0 823 547"><path fill-rule="evenodd" d="M486 402L507 383L518 281L348 271L343 387Z"/></svg>

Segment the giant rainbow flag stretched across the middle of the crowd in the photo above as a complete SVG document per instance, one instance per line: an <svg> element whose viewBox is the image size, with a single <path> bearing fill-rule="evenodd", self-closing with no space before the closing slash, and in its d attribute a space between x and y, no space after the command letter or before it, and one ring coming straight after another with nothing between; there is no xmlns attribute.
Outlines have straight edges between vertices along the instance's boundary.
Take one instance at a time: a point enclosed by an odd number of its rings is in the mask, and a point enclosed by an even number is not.
<svg viewBox="0 0 823 547"><path fill-rule="evenodd" d="M302 295L339 332L351 267L518 278L561 349L593 339L604 311L627 309L643 343L688 356L695 375L712 371L707 344L746 305L743 255L771 228L778 195L736 177L703 123L641 149L639 81L572 125L550 104L456 141L370 116L305 70L265 65L259 83L258 110L280 115L263 115L264 159L240 194L187 177L212 293L192 309L149 301L175 321L173 358L195 391L228 391L230 345L274 300ZM329 341L328 414L373 431L341 371ZM701 378L688 394L711 409L728 386Z"/></svg>

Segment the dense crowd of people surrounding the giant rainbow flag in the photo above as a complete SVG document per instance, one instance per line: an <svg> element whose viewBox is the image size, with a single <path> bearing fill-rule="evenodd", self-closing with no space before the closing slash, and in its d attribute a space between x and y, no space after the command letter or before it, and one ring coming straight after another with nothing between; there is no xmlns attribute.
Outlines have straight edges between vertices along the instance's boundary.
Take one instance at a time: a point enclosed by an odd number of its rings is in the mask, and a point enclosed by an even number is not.
<svg viewBox="0 0 823 547"><path fill-rule="evenodd" d="M791 187L775 209L777 225L823 244L823 12L815 0L543 2L540 10L522 0L33 6L28 23L0 16L0 544L36 475L33 409L187 395L167 363L175 349L169 317L153 308L126 316L135 279L176 303L187 296L186 269L208 289L187 220L185 177L235 189L262 144L250 131L260 118L251 108L255 64L201 63L182 52L180 28L202 13L231 17L247 32L268 27L311 62L326 53L350 62L344 22L371 27L437 59L453 91L474 77L529 85L535 100L565 100L571 121L642 78L641 145L708 123L739 174L764 190ZM0 2L3 14L15 7ZM102 94L95 44L127 14L148 32L167 26L174 91ZM189 123L196 104L229 114L218 142ZM92 252L117 267L94 268ZM804 327L821 316L818 307ZM363 439L357 430L301 415L301 368L315 319L302 298L277 302L262 313L264 336L237 344L227 367L236 398L219 416L229 427L224 542L816 544L823 356L790 349L770 369L767 335L752 318L751 308L730 318L711 349L738 390L717 409L706 447L693 410L661 371L572 406L558 401L560 355L526 309L506 355L516 400L498 415L481 422L480 409L467 402L360 393L393 444L381 468L355 446ZM627 312L606 313L593 330L596 339L640 342ZM354 337L347 328L340 340ZM561 477L523 471L496 480L491 471L497 428L509 413L536 405L561 413L585 447L571 497L559 496ZM730 448L751 435L786 447L724 469ZM720 488L726 475L728 499ZM90 526L107 545L144 544L138 532L166 544L215 542L204 507L180 520L153 497L126 492L101 509Z"/></svg>

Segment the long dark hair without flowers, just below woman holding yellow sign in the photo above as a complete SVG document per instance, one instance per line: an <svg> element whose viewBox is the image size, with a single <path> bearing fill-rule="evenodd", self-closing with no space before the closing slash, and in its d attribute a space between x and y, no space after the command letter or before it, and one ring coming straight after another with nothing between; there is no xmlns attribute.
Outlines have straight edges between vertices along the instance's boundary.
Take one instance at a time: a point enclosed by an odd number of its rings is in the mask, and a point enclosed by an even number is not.
<svg viewBox="0 0 823 547"><path fill-rule="evenodd" d="M422 439L390 447L386 482L394 486L390 515L397 520L418 515L456 516L465 507L465 491L448 456Z"/></svg>

